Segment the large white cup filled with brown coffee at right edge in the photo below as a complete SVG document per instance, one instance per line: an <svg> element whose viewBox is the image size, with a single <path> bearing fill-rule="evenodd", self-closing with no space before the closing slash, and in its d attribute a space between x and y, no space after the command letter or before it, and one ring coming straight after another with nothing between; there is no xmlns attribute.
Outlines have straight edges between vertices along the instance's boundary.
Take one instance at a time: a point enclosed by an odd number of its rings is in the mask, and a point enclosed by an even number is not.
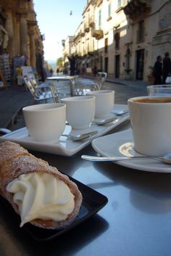
<svg viewBox="0 0 171 256"><path fill-rule="evenodd" d="M149 156L171 152L171 97L135 97L128 107L135 150Z"/></svg>

